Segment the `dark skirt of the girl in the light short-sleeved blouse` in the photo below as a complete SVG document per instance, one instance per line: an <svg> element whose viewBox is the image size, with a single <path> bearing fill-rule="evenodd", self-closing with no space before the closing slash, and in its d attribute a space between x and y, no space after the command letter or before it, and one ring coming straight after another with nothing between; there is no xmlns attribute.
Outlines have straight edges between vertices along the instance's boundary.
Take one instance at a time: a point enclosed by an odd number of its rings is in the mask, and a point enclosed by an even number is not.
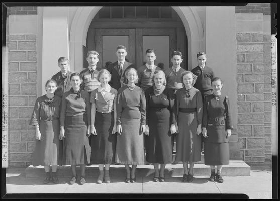
<svg viewBox="0 0 280 201"><path fill-rule="evenodd" d="M111 164L115 161L117 134L112 134L114 127L114 112L96 112L95 128L97 135L91 136L92 164Z"/></svg>

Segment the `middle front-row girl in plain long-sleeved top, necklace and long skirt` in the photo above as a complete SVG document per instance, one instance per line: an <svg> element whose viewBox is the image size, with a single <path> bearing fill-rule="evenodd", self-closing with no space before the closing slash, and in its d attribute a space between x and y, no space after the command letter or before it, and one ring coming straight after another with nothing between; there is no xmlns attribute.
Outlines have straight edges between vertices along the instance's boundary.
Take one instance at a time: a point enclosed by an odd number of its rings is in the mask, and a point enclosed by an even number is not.
<svg viewBox="0 0 280 201"><path fill-rule="evenodd" d="M124 83L118 90L117 137L115 162L126 168L125 182L136 182L137 165L144 165L143 133L146 127L146 99L143 90L135 85L138 76L135 68L127 68ZM132 165L130 170L129 165Z"/></svg>

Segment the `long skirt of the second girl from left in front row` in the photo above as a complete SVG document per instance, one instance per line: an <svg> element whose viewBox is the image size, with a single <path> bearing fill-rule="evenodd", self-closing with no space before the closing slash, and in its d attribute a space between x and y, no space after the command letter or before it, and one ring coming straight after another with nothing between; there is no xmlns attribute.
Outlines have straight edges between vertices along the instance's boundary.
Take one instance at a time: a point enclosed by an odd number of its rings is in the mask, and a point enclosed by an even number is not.
<svg viewBox="0 0 280 201"><path fill-rule="evenodd" d="M90 163L91 150L86 130L87 117L85 115L65 117L64 159L66 165Z"/></svg>

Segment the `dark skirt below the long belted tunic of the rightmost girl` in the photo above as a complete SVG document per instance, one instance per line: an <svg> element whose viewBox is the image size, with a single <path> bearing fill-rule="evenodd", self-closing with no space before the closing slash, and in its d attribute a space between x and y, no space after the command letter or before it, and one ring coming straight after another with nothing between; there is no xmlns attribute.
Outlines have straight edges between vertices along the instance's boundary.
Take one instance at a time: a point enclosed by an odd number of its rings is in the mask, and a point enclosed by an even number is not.
<svg viewBox="0 0 280 201"><path fill-rule="evenodd" d="M205 143L204 142L204 164L205 165L228 165L229 143Z"/></svg>

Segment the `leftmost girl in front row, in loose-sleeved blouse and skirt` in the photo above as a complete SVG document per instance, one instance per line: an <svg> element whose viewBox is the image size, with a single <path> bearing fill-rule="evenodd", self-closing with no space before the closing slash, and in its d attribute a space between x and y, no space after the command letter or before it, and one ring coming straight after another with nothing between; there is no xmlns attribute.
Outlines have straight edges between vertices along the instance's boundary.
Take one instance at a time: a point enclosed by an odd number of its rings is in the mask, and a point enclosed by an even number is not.
<svg viewBox="0 0 280 201"><path fill-rule="evenodd" d="M54 95L57 89L55 80L50 79L45 85L46 95L38 97L31 116L30 125L35 126L36 146L32 156L32 165L43 165L46 172L44 183L58 183L56 176L59 154L59 116L61 98ZM52 174L50 175L50 166Z"/></svg>

